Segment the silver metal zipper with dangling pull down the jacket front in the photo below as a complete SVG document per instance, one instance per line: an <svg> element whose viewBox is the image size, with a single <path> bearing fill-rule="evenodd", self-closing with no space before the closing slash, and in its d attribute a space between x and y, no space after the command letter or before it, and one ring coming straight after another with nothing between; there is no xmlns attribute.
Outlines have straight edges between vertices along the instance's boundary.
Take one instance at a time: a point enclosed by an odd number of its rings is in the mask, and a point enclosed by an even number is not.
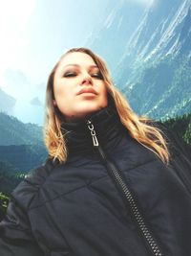
<svg viewBox="0 0 191 256"><path fill-rule="evenodd" d="M151 231L149 230L149 228L147 227L147 225L144 221L143 216L141 215L140 211L138 210L138 205L137 205L136 199L134 198L133 194L129 190L129 188L122 176L122 172L119 171L117 169L117 167L115 166L115 164L107 158L106 154L100 147L97 137L96 137L96 131L95 131L94 125L90 120L87 120L87 126L90 129L94 147L96 147L97 150L99 151L99 154L100 154L101 158L104 160L108 171L115 178L117 187L119 188L120 192L122 192L123 197L128 202L133 220L136 222L136 224L138 226L138 231L139 231L141 237L144 239L144 241L152 255L163 256L163 254L161 253L161 250L159 248L159 244L156 242L156 239L154 239Z"/></svg>

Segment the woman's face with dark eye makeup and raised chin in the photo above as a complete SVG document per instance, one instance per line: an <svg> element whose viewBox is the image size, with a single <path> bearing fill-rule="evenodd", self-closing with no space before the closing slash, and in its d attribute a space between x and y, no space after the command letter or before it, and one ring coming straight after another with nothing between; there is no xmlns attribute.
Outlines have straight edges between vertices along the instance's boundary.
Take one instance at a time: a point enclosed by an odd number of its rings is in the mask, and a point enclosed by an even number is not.
<svg viewBox="0 0 191 256"><path fill-rule="evenodd" d="M83 118L108 104L107 90L93 58L85 53L66 55L53 81L55 102L67 121Z"/></svg>

